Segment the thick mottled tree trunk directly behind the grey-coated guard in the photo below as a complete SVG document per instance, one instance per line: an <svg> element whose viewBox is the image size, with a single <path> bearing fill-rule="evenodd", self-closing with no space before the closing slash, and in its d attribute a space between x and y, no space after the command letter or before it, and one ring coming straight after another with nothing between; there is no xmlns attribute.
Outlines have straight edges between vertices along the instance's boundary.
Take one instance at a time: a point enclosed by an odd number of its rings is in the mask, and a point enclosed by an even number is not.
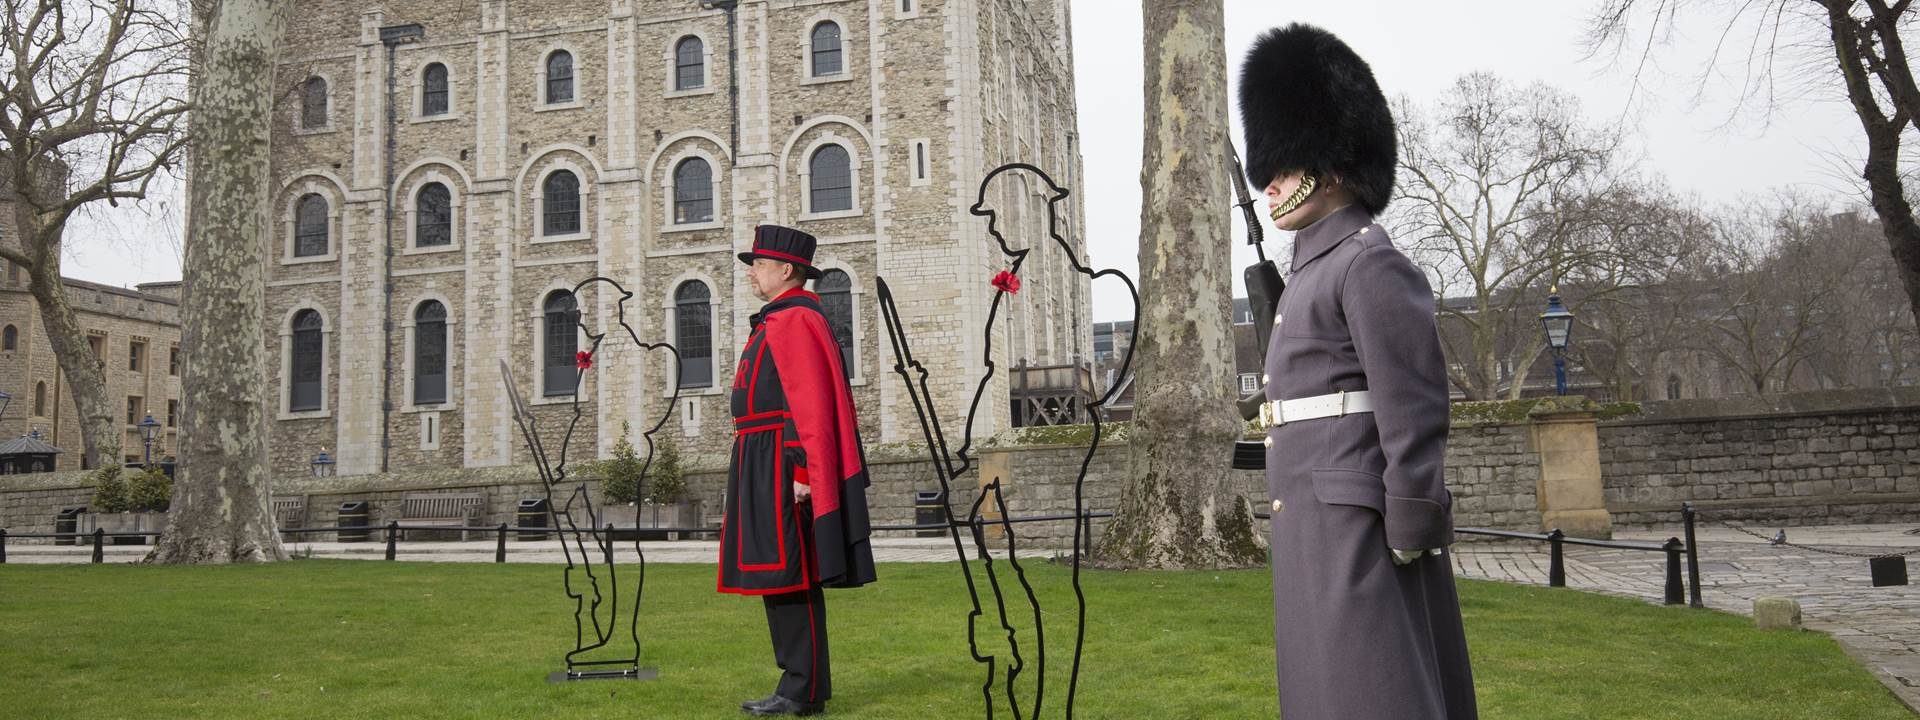
<svg viewBox="0 0 1920 720"><path fill-rule="evenodd" d="M1140 334L1127 488L1100 557L1148 568L1265 561L1229 461L1233 253L1221 0L1146 2Z"/></svg>

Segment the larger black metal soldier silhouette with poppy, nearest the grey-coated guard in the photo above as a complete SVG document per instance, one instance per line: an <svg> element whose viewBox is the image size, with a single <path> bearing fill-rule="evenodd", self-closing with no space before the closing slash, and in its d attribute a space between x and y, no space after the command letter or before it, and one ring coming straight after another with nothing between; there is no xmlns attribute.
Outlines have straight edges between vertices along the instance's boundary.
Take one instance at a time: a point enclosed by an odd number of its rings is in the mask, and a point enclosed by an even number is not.
<svg viewBox="0 0 1920 720"><path fill-rule="evenodd" d="M1041 614L1041 603L1039 603L1039 597L1033 591L1033 586L1027 582L1025 568L1021 568L1021 564L1020 564L1020 555L1016 551L1014 526L1008 520L1006 499L1002 497L1002 490L1000 490L1000 478L993 478L993 480L989 480L989 482L985 482L981 486L979 493L973 497L973 501L968 507L968 518L966 520L956 520L954 518L954 507L952 507L952 486L954 486L954 482L960 480L962 476L966 476L970 470L973 470L973 420L975 420L975 417L979 413L981 399L987 394L987 386L993 380L993 374L996 371L996 365L993 361L993 336L995 336L995 323L998 321L998 315L1000 315L1000 301L1010 292L1018 292L1020 269L1025 265L1027 255L1033 252L1033 248L1018 248L1018 250L1012 248L1008 244L1006 236L1000 234L998 215L993 209L987 209L987 188L993 184L993 180L996 177L1006 175L1006 173L1016 173L1016 171L1031 173L1031 175L1035 175L1035 177L1039 177L1041 180L1046 182L1046 190L1048 190L1046 192L1046 234L1048 234L1048 238L1054 240L1054 244L1060 246L1062 252L1066 252L1068 265L1075 273L1085 275L1089 280L1098 280L1098 278L1114 276L1114 278L1119 278L1121 282L1125 282L1127 294L1133 298L1135 319L1139 319L1139 298L1140 296L1139 296L1139 290L1133 284L1133 278L1129 278L1125 273L1121 273L1117 269L1100 269L1100 271L1094 271L1094 269L1087 267L1085 263L1081 263L1079 255L1075 255L1073 246L1068 244L1068 240L1060 234L1060 213L1058 213L1056 205L1069 196L1068 188L1062 188L1060 184L1056 184L1052 180L1052 177L1048 177L1044 171L1041 171L1039 167L1033 167L1029 163L1008 163L1008 165L1000 165L1000 167L993 169L991 173L987 173L987 177L981 179L981 182L979 182L979 194L977 194L973 205L968 207L968 211L972 215L987 219L987 232L998 244L1000 253L1006 255L1008 269L1004 273L1012 275L1012 280L1002 284L1002 278L995 278L995 286L998 290L995 292L993 305L987 311L985 351L983 351L983 357L981 357L981 361L985 365L985 372L981 374L979 384L973 390L973 399L968 405L966 428L962 432L960 447L958 449L950 449L948 447L948 440L947 440L947 432L941 426L939 411L935 409L935 403L933 403L933 392L927 386L929 372L927 372L925 365L922 365L914 357L914 351L912 351L908 336L906 336L906 326L900 321L900 313L899 313L899 307L895 305L893 292L887 286L887 280L885 278L876 278L877 280L876 284L879 288L879 309L881 309L881 317L885 319L885 324L887 324L887 340L893 346L893 357L895 357L893 371L906 382L908 397L914 403L914 415L918 417L922 434L924 434L924 438L927 442L927 453L933 459L935 476L937 476L937 480L941 484L943 513L947 516L948 536L952 538L954 553L960 557L962 578L966 580L968 597L972 599L972 605L973 605L972 611L968 612L968 653L973 657L975 662L985 664L985 670L987 670L987 680L981 685L981 699L985 701L985 708L987 708L987 718L989 720L993 718L993 708L995 708L995 684L1000 682L1000 660L998 660L998 657L985 655L981 651L979 636L973 630L975 620L979 620L981 616L985 616L987 611L985 611L985 605L981 601L979 584L977 584L977 580L973 576L973 566L972 566L972 563L968 559L966 541L962 540L962 534L960 534L962 528L970 530L968 536L973 541L973 549L975 549L977 557L983 561L981 564L983 564L985 582L987 582L989 589L993 591L995 609L996 609L996 614L998 614L998 620L1000 620L1000 630L1006 634L1008 655L1012 657L1006 662L1006 674L1004 674L1004 685L1002 685L1004 701L1012 708L1016 720L1025 718L1025 716L1035 716L1037 718L1041 714L1041 708L1044 707L1044 701L1046 701L1046 634L1044 634L1044 624L1043 624L1043 614ZM1127 351L1121 355L1119 374L1117 374L1121 378L1127 374L1129 367L1133 365L1133 342L1131 342L1131 338L1133 338L1135 332L1137 330L1129 328L1129 344L1127 344ZM1087 595L1085 595L1085 591L1081 588L1081 557L1089 549L1087 545L1092 541L1091 534L1083 534L1081 532L1081 528L1085 528L1083 518L1087 515L1087 503L1085 503L1087 468L1092 465L1092 455L1098 451L1100 438L1104 434L1102 432L1102 422L1100 422L1100 409L1106 407L1114 399L1114 394L1117 394L1119 388L1121 388L1121 384L1116 382L1112 388L1106 390L1106 394L1102 394L1098 399L1094 399L1094 401L1091 401L1087 405L1087 409L1089 409L1089 413L1092 417L1092 442L1089 444L1087 453L1081 459L1079 476L1073 480L1073 516L1077 520L1075 520L1075 532L1073 532L1073 557L1071 557L1071 563L1073 563L1073 597L1075 597L1075 605L1077 605L1075 607L1077 614L1075 614L1075 636L1073 636L1073 666L1071 666L1071 672L1068 676L1068 697L1066 697L1066 716L1069 720L1073 718L1073 703L1075 703L1075 699L1079 695L1081 655L1085 651L1085 641L1087 641ZM1035 647L1037 647L1037 651L1035 651L1035 666L1033 666L1035 691L1033 691L1031 707L1023 705L1020 701L1018 693L1016 693L1016 682L1027 670L1027 662L1025 662L1025 657L1020 651L1020 639L1018 639L1018 634L1016 634L1016 630L1014 630L1014 626L1010 622L1010 616L1008 616L1008 609L1006 609L1008 597L1006 597L1006 591L1000 586L1000 574L995 570L993 553L987 547L985 526L991 520L987 520L983 516L981 507L989 499L993 501L993 507L998 511L998 516L1000 516L998 522L1000 522L1000 528L1004 530L1004 536L1006 536L1006 563L1008 563L1008 566L1012 566L1014 576L1016 576L1014 580L1023 589L1027 605L1033 611L1033 636L1035 636ZM1031 712L1027 712L1027 710L1031 710Z"/></svg>

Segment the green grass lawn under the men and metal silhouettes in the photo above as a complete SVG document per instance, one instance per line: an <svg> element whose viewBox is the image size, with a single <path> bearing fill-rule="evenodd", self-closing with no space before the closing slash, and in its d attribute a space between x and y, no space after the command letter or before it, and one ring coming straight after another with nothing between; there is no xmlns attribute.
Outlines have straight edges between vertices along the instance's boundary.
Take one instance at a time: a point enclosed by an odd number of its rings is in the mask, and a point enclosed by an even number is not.
<svg viewBox="0 0 1920 720"><path fill-rule="evenodd" d="M1071 591L1066 568L1029 572L1048 609L1044 716L1058 718ZM760 603L716 595L712 566L649 572L641 632L659 680L549 685L572 636L559 576L369 561L6 564L0 716L733 718L772 689ZM1467 582L1461 593L1486 718L1910 718L1820 634L1565 589ZM1277 714L1265 572L1089 572L1087 595L1077 716ZM829 618L829 716L983 716L958 566L881 566L879 584L831 591Z"/></svg>

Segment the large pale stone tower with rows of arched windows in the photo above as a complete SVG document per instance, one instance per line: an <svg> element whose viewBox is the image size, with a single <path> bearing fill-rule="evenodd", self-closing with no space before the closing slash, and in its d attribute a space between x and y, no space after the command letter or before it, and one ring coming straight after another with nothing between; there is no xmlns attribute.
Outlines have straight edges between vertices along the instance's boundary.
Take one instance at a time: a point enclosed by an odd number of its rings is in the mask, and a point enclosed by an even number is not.
<svg viewBox="0 0 1920 720"><path fill-rule="evenodd" d="M726 4L722 4L726 6ZM382 29L419 38L382 42ZM730 444L726 388L760 301L737 252L760 223L820 238L866 440L920 430L881 321L887 278L943 415L987 353L989 278L1008 265L972 213L1037 252L991 342L1000 367L1091 359L1064 0L301 2L278 77L269 376L273 465L338 474L526 463L501 363L549 447L574 415L578 307L624 309L578 388L570 457L605 455L666 411L693 453ZM392 108L390 108L392 100ZM837 271L831 273L831 271ZM568 292L591 276L618 280ZM1008 424L1006 372L977 434ZM948 420L954 422L954 420Z"/></svg>

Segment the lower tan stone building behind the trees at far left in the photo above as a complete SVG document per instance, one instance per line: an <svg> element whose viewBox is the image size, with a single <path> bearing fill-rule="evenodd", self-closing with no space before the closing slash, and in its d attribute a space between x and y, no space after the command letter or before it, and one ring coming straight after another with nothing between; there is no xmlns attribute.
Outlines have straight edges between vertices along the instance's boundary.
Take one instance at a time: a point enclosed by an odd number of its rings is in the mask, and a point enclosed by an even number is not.
<svg viewBox="0 0 1920 720"><path fill-rule="evenodd" d="M125 405L127 434L121 457L138 463L144 438L136 422L148 413L161 426L154 459L173 453L180 419L180 307L179 282L150 282L123 290L67 278L67 301L79 315L106 367L108 399ZM0 392L12 396L0 411L0 438L40 432L61 447L58 470L79 470L86 444L81 440L73 390L54 344L40 323L40 305L27 292L27 271L0 259Z"/></svg>

